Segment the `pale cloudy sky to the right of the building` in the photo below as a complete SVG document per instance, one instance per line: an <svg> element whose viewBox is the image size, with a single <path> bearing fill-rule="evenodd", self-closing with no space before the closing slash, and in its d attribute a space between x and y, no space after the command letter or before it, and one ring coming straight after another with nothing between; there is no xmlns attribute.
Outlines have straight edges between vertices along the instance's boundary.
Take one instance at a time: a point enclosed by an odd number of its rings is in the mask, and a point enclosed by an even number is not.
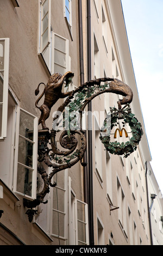
<svg viewBox="0 0 163 256"><path fill-rule="evenodd" d="M122 0L122 7L151 165L163 194L163 1Z"/></svg>

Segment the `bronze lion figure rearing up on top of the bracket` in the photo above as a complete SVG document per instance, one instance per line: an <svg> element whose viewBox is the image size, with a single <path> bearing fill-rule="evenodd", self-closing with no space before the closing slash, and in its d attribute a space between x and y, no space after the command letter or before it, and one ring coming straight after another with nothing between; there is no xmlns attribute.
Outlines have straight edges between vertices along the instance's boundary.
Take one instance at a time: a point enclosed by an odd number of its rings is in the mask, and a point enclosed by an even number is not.
<svg viewBox="0 0 163 256"><path fill-rule="evenodd" d="M49 114L51 112L51 108L53 107L53 105L59 99L63 99L71 95L72 92L62 93L62 85L64 82L66 82L66 86L68 86L68 84L71 83L73 76L74 74L70 71L67 71L65 75L55 73L51 77L49 77L47 84L39 83L39 86L36 88L35 95L39 94L40 92L39 91L40 84L44 84L45 86L42 94L39 96L39 98L35 102L35 106L39 108L41 111L39 124L42 125L42 129L48 129L46 127L45 121L49 117ZM39 107L38 103L41 100L43 95L45 95L45 99L43 104Z"/></svg>

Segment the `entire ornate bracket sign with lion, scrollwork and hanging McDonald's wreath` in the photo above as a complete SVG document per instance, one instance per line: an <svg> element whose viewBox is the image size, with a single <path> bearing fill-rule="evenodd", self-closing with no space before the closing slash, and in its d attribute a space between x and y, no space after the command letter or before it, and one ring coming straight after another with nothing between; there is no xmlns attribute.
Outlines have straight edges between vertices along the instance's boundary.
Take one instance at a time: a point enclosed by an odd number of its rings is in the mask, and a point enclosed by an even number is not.
<svg viewBox="0 0 163 256"><path fill-rule="evenodd" d="M41 111L39 124L42 125L42 130L39 130L37 172L41 175L44 186L34 201L24 199L24 206L29 208L26 213L30 222L36 214L36 210L33 210L33 208L41 203L47 203L44 198L49 193L49 186L55 187L57 185L55 182L52 183L53 176L61 170L71 168L79 161L83 166L86 165L83 162L86 139L85 131L82 128L82 114L87 104L96 96L103 93L115 93L124 96L122 100L117 102L118 109L110 108L110 113L106 115L101 128L100 139L106 150L111 154L128 157L136 150L142 136L141 124L131 113L129 107L129 103L133 100L133 92L127 84L114 78L99 78L82 84L72 92L62 93L62 86L65 84L65 87L67 87L73 76L74 74L70 71L64 75L58 73L52 75L47 85L43 83L45 89L35 103L35 106ZM35 95L39 94L40 84L35 90ZM45 95L45 99L39 107L38 102L43 95ZM46 126L46 119L49 117L51 108L59 99L64 98L66 98L64 103L60 105L54 115L52 130L49 131ZM130 126L133 137L126 143L110 142L110 132L120 119L123 119L124 126L126 124ZM63 131L60 130L60 126L64 127ZM128 137L124 128L121 131L117 129L116 132L119 131L121 136L123 130L126 137ZM59 135L60 132L61 135ZM58 136L59 139L57 139ZM60 145L58 145L58 141ZM52 167L52 172L49 175L46 173L43 164Z"/></svg>

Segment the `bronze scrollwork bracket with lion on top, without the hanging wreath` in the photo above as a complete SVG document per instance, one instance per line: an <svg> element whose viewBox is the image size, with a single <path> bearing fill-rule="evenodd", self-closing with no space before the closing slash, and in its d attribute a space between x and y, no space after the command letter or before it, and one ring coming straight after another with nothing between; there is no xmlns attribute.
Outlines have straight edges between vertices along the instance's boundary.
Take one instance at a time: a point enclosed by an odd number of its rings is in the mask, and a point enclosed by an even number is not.
<svg viewBox="0 0 163 256"><path fill-rule="evenodd" d="M66 72L65 75L54 74L49 78L47 85L39 99L36 101L36 107L40 108L41 115L39 123L42 125L42 130L39 131L39 147L38 147L38 167L37 172L41 175L44 186L37 198L32 202L29 200L24 201L24 205L32 210L40 203L44 202L44 198L49 193L49 186L56 186L52 182L53 176L66 168L71 168L78 161L83 166L86 163L82 162L86 150L85 132L82 128L82 113L86 105L93 100L96 96L103 93L120 94L123 97L119 100L116 117L123 118L122 105L127 105L133 100L133 92L127 84L114 78L99 78L86 82L79 86L76 90L63 94L61 92L64 82L66 86L71 82L73 77L72 72ZM39 84L40 86L40 84ZM66 87L65 86L65 87ZM39 93L37 87L35 94ZM41 97L45 94L45 101L41 107L37 105ZM53 119L53 127L49 132L46 127L45 121L49 117L52 106L60 99L66 97L66 100L57 109L56 115ZM115 114L115 113L114 113ZM61 118L62 117L62 118ZM62 122L63 131L60 131L60 123ZM104 122L105 123L105 122ZM103 130L107 130L107 125L104 125ZM59 139L57 136L61 132ZM107 136L106 136L107 134ZM104 143L109 138L110 133L105 133L106 138L101 139ZM141 136L140 136L141 137ZM59 145L58 145L59 141ZM106 147L107 150L107 147ZM43 163L48 167L52 167L52 172L48 175L43 167ZM28 215L29 215L28 210ZM31 215L30 215L31 218ZM30 219L31 220L31 219Z"/></svg>

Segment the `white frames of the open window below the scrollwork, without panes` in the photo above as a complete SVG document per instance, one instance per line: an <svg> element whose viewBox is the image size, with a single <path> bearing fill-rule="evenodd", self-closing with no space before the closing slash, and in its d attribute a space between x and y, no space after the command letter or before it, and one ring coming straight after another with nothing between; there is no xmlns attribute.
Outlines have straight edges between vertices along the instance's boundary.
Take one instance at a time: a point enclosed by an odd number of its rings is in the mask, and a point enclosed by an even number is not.
<svg viewBox="0 0 163 256"><path fill-rule="evenodd" d="M65 210L64 212L54 209L53 208L53 191L56 189L56 187L51 189L51 204L50 204L50 215L49 215L49 234L52 237L55 237L55 239L62 240L65 242L65 245L78 245L78 221L82 222L81 220L78 220L78 203L84 204L84 216L85 216L85 235L86 235L86 243L84 241L81 241L85 243L85 245L89 245L89 220L88 220L88 205L76 198L76 193L73 191L71 187L71 177L68 176L68 169L62 170L62 172L65 172L64 176L64 182L65 182L65 188L60 188L56 186L57 188L64 191L64 205ZM54 178L53 178L54 179ZM72 201L73 197L73 201ZM64 237L61 235L57 235L53 233L52 226L53 226L53 211L64 214L65 216L65 222L64 222ZM56 220L54 220L56 221Z"/></svg>

